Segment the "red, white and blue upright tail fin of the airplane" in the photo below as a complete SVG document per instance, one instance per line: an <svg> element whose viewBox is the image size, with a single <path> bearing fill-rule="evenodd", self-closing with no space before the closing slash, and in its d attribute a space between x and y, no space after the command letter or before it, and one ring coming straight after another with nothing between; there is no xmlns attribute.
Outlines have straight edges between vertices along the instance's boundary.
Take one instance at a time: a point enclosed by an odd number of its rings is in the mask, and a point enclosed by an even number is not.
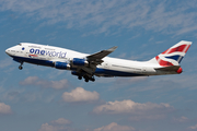
<svg viewBox="0 0 197 131"><path fill-rule="evenodd" d="M192 41L182 40L164 52L158 55L149 62L159 63L161 67L179 66L190 45Z"/></svg>

